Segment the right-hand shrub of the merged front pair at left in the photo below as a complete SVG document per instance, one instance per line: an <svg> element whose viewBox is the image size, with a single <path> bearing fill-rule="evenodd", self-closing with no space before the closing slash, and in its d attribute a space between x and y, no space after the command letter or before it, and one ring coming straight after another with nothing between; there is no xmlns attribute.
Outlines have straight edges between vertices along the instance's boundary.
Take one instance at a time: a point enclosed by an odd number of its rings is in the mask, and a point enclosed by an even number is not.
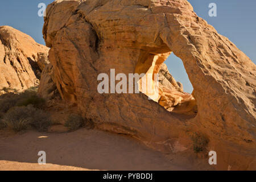
<svg viewBox="0 0 256 182"><path fill-rule="evenodd" d="M52 121L49 114L43 110L37 109L33 114L31 126L35 127L35 129L40 132L44 132L47 131L51 125Z"/></svg>

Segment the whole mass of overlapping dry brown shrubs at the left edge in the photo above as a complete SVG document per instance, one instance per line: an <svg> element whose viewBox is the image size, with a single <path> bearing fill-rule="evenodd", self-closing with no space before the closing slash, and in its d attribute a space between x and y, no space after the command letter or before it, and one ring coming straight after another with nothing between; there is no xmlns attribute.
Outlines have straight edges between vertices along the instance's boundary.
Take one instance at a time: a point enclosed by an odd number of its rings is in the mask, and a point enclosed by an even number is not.
<svg viewBox="0 0 256 182"><path fill-rule="evenodd" d="M51 120L39 109L44 105L44 100L37 96L36 89L33 87L22 93L8 93L1 96L0 129L7 126L18 132L33 126L38 131L47 131Z"/></svg>

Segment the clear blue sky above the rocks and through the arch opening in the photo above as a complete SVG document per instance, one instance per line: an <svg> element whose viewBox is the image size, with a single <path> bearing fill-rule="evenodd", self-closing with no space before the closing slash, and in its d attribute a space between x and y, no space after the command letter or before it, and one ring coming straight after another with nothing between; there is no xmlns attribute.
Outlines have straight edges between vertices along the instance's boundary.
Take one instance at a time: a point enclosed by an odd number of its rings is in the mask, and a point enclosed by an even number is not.
<svg viewBox="0 0 256 182"><path fill-rule="evenodd" d="M207 20L218 33L229 38L256 63L256 1L255 0L188 0L194 11ZM38 16L38 4L53 0L1 0L0 26L9 25L45 44L42 35L43 18ZM216 3L217 17L208 15L209 3ZM164 62L171 74L180 81L186 92L193 88L182 61L172 54Z"/></svg>

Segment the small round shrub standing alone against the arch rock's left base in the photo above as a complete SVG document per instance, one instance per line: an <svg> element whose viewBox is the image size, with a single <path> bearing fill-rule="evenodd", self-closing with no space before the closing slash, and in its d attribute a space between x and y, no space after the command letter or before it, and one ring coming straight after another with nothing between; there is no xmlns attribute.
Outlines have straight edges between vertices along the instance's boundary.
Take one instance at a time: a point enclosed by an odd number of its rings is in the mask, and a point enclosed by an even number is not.
<svg viewBox="0 0 256 182"><path fill-rule="evenodd" d="M77 114L69 115L65 121L65 127L68 127L71 131L77 130L82 126L84 126L84 119Z"/></svg>

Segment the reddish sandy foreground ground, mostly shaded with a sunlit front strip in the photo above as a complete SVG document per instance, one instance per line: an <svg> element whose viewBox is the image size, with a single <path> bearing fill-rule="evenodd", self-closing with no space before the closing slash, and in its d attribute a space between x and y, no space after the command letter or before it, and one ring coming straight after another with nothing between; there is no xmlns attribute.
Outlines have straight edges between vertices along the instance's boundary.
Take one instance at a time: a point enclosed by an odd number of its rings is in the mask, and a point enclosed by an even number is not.
<svg viewBox="0 0 256 182"><path fill-rule="evenodd" d="M38 152L46 151L46 165ZM178 161L178 163L177 163ZM0 132L0 170L187 170L185 158L164 155L124 135L81 129L72 133Z"/></svg>

